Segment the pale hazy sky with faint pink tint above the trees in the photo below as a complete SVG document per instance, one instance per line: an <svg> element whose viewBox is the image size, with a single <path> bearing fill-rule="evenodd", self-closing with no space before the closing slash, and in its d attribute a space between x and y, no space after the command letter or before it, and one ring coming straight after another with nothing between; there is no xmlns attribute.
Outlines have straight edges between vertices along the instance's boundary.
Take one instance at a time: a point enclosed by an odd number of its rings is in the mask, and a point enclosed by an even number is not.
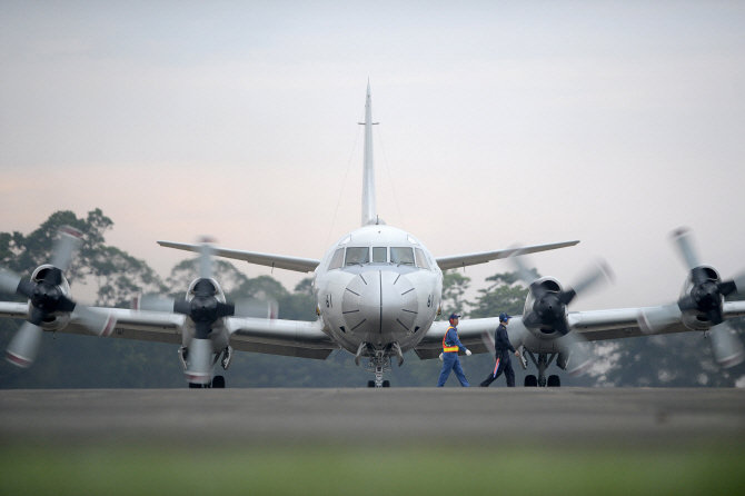
<svg viewBox="0 0 745 496"><path fill-rule="evenodd" d="M320 258L359 225L369 78L389 225L435 256L579 239L529 260L570 284L607 259L573 309L666 302L678 226L745 267L744 26L712 1L6 0L0 231L98 207L163 276L185 255L156 240L203 234Z"/></svg>

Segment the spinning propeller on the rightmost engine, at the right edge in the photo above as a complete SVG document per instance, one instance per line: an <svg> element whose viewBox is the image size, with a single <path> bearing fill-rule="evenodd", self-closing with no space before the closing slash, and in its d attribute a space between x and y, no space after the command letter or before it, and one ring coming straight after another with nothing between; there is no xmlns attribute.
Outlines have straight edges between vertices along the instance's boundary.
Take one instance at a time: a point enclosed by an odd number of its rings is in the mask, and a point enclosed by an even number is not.
<svg viewBox="0 0 745 496"><path fill-rule="evenodd" d="M716 363L724 368L741 364L745 359L743 344L722 314L724 297L745 292L745 271L732 280L719 280L711 267L698 262L693 247L693 234L687 228L670 232L670 237L685 265L691 270L691 291L677 301L644 310L638 324L644 333L654 334L681 321L684 315L696 315L699 321L711 323L709 335Z"/></svg>

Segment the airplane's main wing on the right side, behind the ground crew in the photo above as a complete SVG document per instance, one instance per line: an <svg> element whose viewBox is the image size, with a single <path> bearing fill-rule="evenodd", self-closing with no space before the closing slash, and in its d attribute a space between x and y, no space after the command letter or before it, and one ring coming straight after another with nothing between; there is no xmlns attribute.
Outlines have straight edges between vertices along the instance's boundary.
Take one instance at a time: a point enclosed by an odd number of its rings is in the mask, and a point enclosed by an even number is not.
<svg viewBox="0 0 745 496"><path fill-rule="evenodd" d="M647 336L636 321L637 315L642 311L654 311L659 308L663 307L570 311L568 319L572 331L582 335L588 341L633 338ZM725 301L723 316L724 318L745 316L745 301ZM464 319L458 324L458 338L473 353L491 353L494 350L494 331L498 325L499 319L497 317ZM439 356L443 351L443 337L445 337L447 328L447 321L437 321L431 325L427 335L415 347L415 353L420 359L425 360ZM520 336L527 331L523 325L522 316L514 316L507 326L509 341L516 348L522 343ZM688 331L691 329L677 321L656 334Z"/></svg>

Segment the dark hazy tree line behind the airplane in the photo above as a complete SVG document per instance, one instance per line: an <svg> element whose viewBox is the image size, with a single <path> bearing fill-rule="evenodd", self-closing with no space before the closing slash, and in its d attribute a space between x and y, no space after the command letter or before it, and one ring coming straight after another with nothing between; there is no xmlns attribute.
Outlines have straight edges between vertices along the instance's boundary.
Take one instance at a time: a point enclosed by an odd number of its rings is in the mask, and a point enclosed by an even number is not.
<svg viewBox="0 0 745 496"><path fill-rule="evenodd" d="M81 284L93 284L95 305L128 308L138 294L182 296L197 277L196 258L181 260L162 278L147 261L107 245L105 235L112 229L113 221L100 209L88 212L85 218L71 211L57 211L29 235L0 232L0 266L30 277L36 267L51 259L52 241L63 225L83 235L80 251L66 272L73 297ZM290 291L271 276L249 278L224 259L215 259L213 271L229 299L274 298L279 306L279 318L316 319L310 278L302 279ZM465 318L494 317L501 311L523 313L527 288L516 274L496 274L486 282L486 288L469 300L466 294L470 278L455 270L445 272L439 318L453 311ZM2 295L3 300L12 298ZM743 319L731 323L743 337ZM3 349L20 324L19 319L0 318ZM566 386L745 387L745 365L721 370L703 333L619 339L590 346L598 358L590 374L575 379L555 367L550 368L552 374L562 376ZM186 387L177 348L161 343L44 333L39 357L29 369L17 368L6 360L0 363L0 388ZM461 361L471 385L478 384L494 367L494 357L488 354ZM439 360L419 360L409 351L405 364L400 368L394 365L387 378L398 387L434 386L440 365ZM523 371L517 364L515 369L518 385L526 374L535 374L532 367ZM238 351L230 369L220 374L226 376L230 387L362 387L371 378L365 364L355 366L354 356L346 351L334 353L325 361ZM456 383L450 380L448 386ZM504 386L504 381L495 386Z"/></svg>

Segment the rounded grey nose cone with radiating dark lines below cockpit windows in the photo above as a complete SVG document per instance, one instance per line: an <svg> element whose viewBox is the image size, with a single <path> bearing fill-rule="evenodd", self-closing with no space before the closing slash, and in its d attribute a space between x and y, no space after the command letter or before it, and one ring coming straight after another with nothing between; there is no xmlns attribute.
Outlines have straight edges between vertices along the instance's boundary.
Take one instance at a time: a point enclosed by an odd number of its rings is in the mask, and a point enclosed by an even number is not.
<svg viewBox="0 0 745 496"><path fill-rule="evenodd" d="M347 286L341 311L352 334L409 334L417 317L417 291L403 274L372 270Z"/></svg>

